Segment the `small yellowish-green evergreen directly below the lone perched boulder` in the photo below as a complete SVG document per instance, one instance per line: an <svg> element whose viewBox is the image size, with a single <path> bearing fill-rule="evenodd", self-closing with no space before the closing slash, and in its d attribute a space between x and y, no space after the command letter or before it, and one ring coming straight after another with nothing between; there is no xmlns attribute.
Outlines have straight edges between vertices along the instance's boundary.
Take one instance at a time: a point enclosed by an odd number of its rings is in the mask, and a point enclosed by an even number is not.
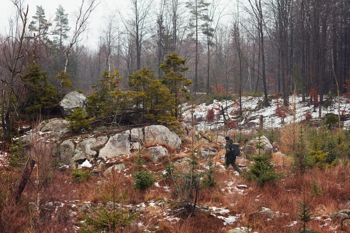
<svg viewBox="0 0 350 233"><path fill-rule="evenodd" d="M91 122L94 118L88 118L87 112L82 108L75 108L72 115L66 117L69 121L70 129L73 132L80 132L81 130L91 130Z"/></svg>

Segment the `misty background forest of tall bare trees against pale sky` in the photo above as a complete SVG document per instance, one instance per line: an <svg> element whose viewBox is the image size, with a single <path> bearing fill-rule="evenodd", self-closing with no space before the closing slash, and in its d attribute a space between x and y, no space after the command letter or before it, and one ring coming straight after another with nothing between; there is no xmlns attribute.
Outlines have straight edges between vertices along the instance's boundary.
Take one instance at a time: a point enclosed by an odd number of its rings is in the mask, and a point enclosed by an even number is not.
<svg viewBox="0 0 350 233"><path fill-rule="evenodd" d="M179 90L194 97L199 92L239 97L262 92L265 106L270 104L268 94L281 93L288 105L289 95L296 92L321 106L325 94L346 93L349 87L350 6L345 0L237 0L226 5L131 0L132 14L109 16L95 49L83 43L83 35L98 1L82 1L71 25L61 5L49 21L42 6L12 2L17 15L0 36L6 140L10 119L23 116L19 113L47 117L66 93L96 94L114 72L120 77L119 90L140 91L140 83L132 79L142 69L150 72L144 74L148 78L162 80L175 97L170 114L177 118ZM227 6L237 10L227 13ZM35 16L28 15L28 7L36 7ZM175 65L178 70L172 67L183 83L171 86L164 78L169 76L161 68L167 54L183 60L182 67ZM139 93L133 98L138 108L143 97Z"/></svg>

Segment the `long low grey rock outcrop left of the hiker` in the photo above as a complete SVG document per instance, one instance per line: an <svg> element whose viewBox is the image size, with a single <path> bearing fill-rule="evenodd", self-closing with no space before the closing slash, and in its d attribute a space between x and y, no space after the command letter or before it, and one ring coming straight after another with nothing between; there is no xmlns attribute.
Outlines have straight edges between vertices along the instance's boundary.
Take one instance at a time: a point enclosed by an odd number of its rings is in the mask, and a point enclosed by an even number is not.
<svg viewBox="0 0 350 233"><path fill-rule="evenodd" d="M169 149L181 148L180 137L162 125L134 128L113 135L95 132L98 135L72 136L64 139L68 132L70 132L68 122L62 118L55 118L43 121L32 133L23 137L22 142L24 146L31 147L40 140L44 142L41 143L43 148L49 145L53 147L51 150L56 151L61 162L70 167L90 162L101 171L105 170L107 161L113 161L113 164L118 162L116 158L119 156L130 154L135 150L143 150L156 163L169 155Z"/></svg>

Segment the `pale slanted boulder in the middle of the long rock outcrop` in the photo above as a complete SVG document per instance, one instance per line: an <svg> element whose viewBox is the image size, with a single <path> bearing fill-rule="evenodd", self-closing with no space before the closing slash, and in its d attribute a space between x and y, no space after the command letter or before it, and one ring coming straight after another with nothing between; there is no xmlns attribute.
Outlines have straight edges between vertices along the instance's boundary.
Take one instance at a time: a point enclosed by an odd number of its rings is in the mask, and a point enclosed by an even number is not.
<svg viewBox="0 0 350 233"><path fill-rule="evenodd" d="M108 160L119 155L129 154L129 142L129 134L127 133L117 133L111 136L105 147L100 150L98 158Z"/></svg>

